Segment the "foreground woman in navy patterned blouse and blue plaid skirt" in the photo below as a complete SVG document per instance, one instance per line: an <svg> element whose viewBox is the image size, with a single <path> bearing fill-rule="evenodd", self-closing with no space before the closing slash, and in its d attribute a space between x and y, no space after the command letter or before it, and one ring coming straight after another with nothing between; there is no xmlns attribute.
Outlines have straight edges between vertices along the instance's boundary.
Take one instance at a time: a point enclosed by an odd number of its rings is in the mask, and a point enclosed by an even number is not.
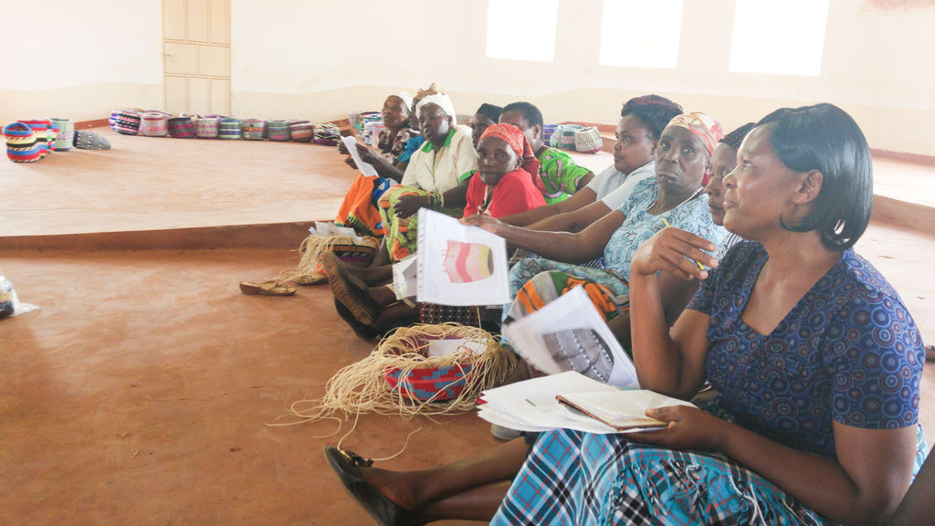
<svg viewBox="0 0 935 526"><path fill-rule="evenodd" d="M927 450L924 351L899 295L850 248L870 221L871 179L867 141L845 112L777 110L725 179L726 226L753 241L710 275L694 262L718 267L710 241L666 228L640 247L630 292L640 384L688 398L707 379L718 395L705 410L648 411L669 423L662 431L550 431L528 456L516 440L419 472L361 467L335 448L328 460L386 524L488 520L497 506L492 524L885 520ZM705 280L670 331L657 271Z"/></svg>

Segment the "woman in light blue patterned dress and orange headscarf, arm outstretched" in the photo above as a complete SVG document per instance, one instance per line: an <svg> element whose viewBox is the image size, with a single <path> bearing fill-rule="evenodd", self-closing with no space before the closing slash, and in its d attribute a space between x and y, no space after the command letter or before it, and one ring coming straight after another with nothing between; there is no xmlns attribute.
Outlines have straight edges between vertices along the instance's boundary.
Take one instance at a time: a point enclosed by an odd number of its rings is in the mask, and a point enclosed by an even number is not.
<svg viewBox="0 0 935 526"><path fill-rule="evenodd" d="M655 150L655 178L638 183L624 205L581 232L529 230L481 216L463 219L519 248L549 258L521 259L511 268L511 295L516 299L511 309L513 317L528 314L541 306L540 301L554 300L572 286L585 285L598 310L610 320L624 312L624 306L615 299L627 293L630 258L656 231L679 226L715 244L721 241L724 229L712 222L702 186L719 139L720 124L704 113L673 118ZM598 256L604 256L606 269L576 265ZM534 293L517 296L540 272L548 273L532 283ZM692 292L691 284L685 282L681 294L690 297Z"/></svg>

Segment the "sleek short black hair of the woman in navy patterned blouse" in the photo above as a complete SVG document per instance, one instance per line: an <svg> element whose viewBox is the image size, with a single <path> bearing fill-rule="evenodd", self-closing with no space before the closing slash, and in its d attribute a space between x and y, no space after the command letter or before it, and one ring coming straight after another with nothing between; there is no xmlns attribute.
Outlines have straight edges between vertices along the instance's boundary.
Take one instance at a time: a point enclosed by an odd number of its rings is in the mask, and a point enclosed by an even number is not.
<svg viewBox="0 0 935 526"><path fill-rule="evenodd" d="M756 126L769 124L773 151L789 169L822 173L814 210L793 232L817 230L832 250L846 250L860 239L873 208L870 146L854 119L833 104L775 110Z"/></svg>

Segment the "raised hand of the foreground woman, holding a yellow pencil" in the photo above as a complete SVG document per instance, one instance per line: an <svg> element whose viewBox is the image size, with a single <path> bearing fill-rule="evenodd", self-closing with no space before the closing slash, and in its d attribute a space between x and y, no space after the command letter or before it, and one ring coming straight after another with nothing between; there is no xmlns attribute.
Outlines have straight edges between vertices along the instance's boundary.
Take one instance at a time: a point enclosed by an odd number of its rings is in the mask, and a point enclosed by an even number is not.
<svg viewBox="0 0 935 526"><path fill-rule="evenodd" d="M630 275L649 276L666 271L686 280L703 280L708 277L708 271L701 269L698 263L717 267L717 259L703 252L713 252L716 248L711 241L691 232L663 228L640 245L630 262Z"/></svg>

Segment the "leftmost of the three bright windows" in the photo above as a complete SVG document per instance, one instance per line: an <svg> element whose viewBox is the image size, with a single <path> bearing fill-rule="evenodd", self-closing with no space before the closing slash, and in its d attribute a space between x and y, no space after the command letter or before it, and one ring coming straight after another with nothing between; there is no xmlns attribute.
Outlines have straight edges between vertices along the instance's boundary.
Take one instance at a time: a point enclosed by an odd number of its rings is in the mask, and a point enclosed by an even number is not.
<svg viewBox="0 0 935 526"><path fill-rule="evenodd" d="M558 0L487 0L487 56L552 62Z"/></svg>

